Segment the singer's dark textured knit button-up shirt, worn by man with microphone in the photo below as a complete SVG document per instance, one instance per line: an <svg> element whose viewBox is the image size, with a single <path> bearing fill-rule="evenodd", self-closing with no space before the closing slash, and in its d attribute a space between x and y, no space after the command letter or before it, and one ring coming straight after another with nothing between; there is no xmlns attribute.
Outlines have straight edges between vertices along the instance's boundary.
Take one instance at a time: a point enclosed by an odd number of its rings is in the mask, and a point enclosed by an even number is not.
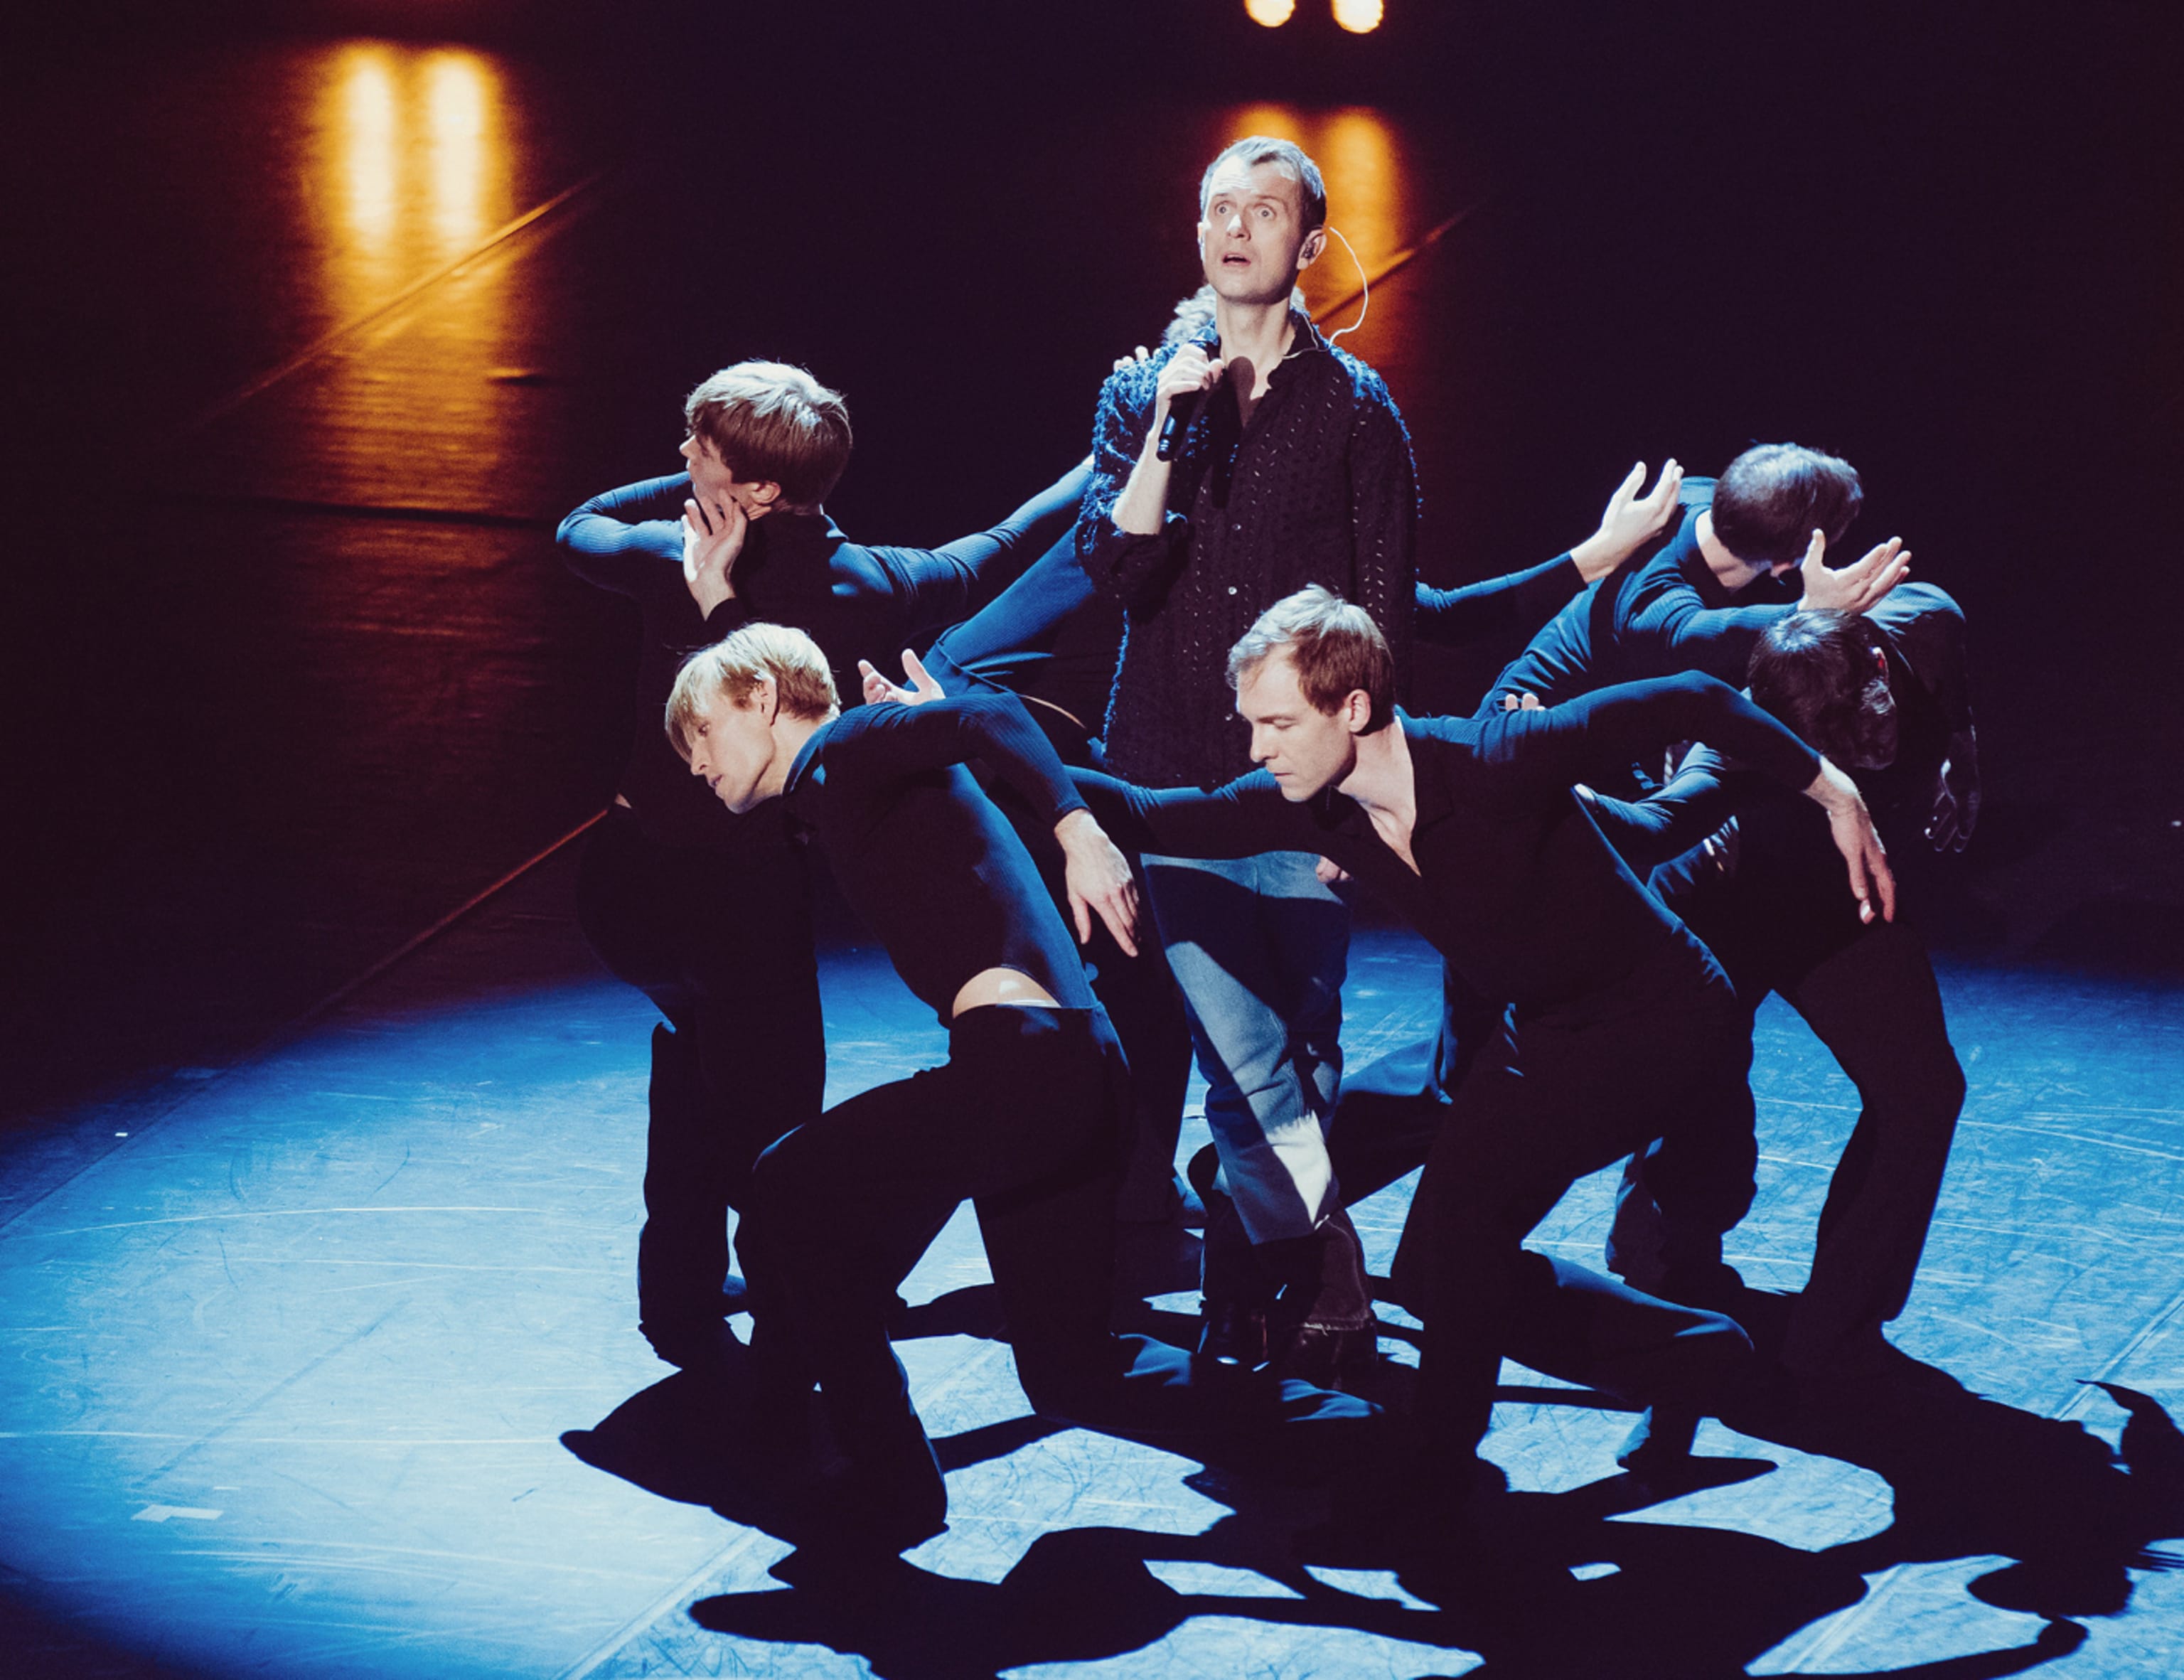
<svg viewBox="0 0 2184 1680"><path fill-rule="evenodd" d="M1291 354L1243 424L1223 380L1175 450L1162 529L1120 531L1114 507L1151 428L1175 350L1114 374L1092 422L1092 487L1077 520L1085 572L1129 614L1107 703L1107 762L1149 786L1219 786L1251 767L1227 651L1306 583L1372 614L1411 673L1417 474L1380 376L1291 310Z"/></svg>

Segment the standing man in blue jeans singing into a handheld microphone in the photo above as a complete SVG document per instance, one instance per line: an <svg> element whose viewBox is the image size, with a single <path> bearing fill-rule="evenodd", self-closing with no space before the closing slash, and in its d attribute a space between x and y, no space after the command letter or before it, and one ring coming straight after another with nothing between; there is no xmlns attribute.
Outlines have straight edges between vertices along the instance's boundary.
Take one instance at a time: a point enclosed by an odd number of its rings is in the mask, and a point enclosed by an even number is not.
<svg viewBox="0 0 2184 1680"><path fill-rule="evenodd" d="M1363 605L1409 673L1411 441L1380 376L1291 304L1326 216L1319 168L1295 144L1227 146L1199 184L1210 336L1101 391L1077 553L1129 614L1105 762L1140 786L1214 789L1251 769L1227 649L1308 583ZM1350 913L1315 861L1147 859L1147 874L1234 1199L1234 1215L1208 1208L1203 1346L1332 1383L1372 1359L1372 1304L1321 1132L1341 1075ZM1223 1219L1249 1247L1221 1241Z"/></svg>

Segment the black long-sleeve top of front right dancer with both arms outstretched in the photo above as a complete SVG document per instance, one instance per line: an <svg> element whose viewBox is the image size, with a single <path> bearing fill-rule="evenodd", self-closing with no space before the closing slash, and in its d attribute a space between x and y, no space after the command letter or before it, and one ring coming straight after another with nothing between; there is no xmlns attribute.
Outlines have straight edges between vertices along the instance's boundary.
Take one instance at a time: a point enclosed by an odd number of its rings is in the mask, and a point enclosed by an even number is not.
<svg viewBox="0 0 2184 1680"><path fill-rule="evenodd" d="M1581 1011L1682 924L1601 839L1570 793L1601 765L1706 736L1787 786L1819 758L1734 688L1699 673L1623 684L1564 706L1489 719L1398 719L1411 752L1417 872L1328 789L1291 804L1267 773L1212 793L1153 793L1075 771L1092 815L1125 848L1173 856L1319 852L1378 891L1481 996L1520 1016Z"/></svg>

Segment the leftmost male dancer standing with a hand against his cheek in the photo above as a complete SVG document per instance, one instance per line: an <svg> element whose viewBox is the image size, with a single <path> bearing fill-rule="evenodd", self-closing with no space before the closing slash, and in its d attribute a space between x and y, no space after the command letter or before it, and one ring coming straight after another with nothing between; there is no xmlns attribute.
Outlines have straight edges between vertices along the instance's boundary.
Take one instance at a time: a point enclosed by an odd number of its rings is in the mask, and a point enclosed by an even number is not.
<svg viewBox="0 0 2184 1680"><path fill-rule="evenodd" d="M594 496L561 522L570 570L642 616L638 730L577 880L585 937L653 998L638 1311L675 1365L721 1352L727 1210L751 1160L819 1112L826 1044L810 889L780 813L732 817L660 734L688 653L753 618L815 634L854 675L974 610L1068 535L1083 474L943 548L869 548L826 516L850 461L843 400L778 363L721 369L684 409L688 472ZM756 979L762 977L762 979Z"/></svg>

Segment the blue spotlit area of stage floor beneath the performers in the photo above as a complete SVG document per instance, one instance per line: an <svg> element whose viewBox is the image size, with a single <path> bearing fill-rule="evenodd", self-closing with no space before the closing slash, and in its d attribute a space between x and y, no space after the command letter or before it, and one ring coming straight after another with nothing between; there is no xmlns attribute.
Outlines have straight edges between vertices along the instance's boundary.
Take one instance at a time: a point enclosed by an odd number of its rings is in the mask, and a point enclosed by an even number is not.
<svg viewBox="0 0 2184 1680"><path fill-rule="evenodd" d="M87 1112L74 1153L13 1162L11 1671L2175 1671L2184 1442L2153 1411L2127 1472L2125 1413L2081 1383L2184 1387L2173 990L1946 972L1970 1099L1902 1381L1865 1405L1780 1440L1708 1422L1710 1486L1658 1501L1612 1462L1625 1416L1507 1365L1487 1451L1520 1494L1516 1595L1435 1604L1372 1536L1315 1531L1321 1494L1040 1424L959 1215L900 1344L950 1529L843 1590L793 1584L791 1547L738 1521L719 1396L636 1330L651 1014L592 968L568 876L166 1112ZM1409 935L1363 931L1352 1060L1422 1031L1435 987ZM939 1053L874 950L832 948L826 994L834 1097ZM1854 1105L1776 1003L1756 1088L1732 1258L1795 1289ZM1361 1206L1378 1271L1406 1202ZM1535 1241L1597 1263L1605 1219L1588 1180ZM1133 1239L1153 1309L1190 1309L1192 1243Z"/></svg>

